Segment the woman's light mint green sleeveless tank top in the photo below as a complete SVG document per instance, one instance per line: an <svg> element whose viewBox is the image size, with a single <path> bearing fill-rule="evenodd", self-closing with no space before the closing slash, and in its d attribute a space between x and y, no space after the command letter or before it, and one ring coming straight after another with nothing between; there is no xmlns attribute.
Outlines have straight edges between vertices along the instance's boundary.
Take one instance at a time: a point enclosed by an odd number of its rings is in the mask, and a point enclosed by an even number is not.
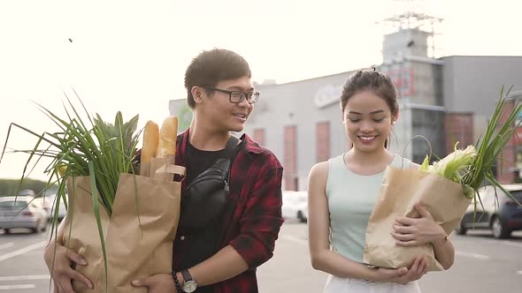
<svg viewBox="0 0 522 293"><path fill-rule="evenodd" d="M366 228L384 171L369 176L357 175L344 165L342 156L328 160L326 198L330 210L330 243L334 252L362 263ZM410 163L395 154L390 166L409 169Z"/></svg>

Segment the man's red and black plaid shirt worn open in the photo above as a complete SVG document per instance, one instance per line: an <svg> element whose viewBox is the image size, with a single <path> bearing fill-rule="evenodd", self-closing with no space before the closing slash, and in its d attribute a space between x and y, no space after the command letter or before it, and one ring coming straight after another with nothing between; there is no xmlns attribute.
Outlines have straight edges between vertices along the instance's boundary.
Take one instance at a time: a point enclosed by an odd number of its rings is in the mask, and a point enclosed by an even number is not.
<svg viewBox="0 0 522 293"><path fill-rule="evenodd" d="M178 136L176 165L185 166L188 131ZM234 214L221 227L224 240L249 265L242 274L214 284L215 293L257 292L256 267L273 256L275 240L283 223L281 216L281 179L283 168L276 156L244 134L246 140L235 156L230 173L230 195L236 200ZM185 189L183 181L181 190ZM181 252L180 252L181 253ZM174 248L173 261L176 259Z"/></svg>

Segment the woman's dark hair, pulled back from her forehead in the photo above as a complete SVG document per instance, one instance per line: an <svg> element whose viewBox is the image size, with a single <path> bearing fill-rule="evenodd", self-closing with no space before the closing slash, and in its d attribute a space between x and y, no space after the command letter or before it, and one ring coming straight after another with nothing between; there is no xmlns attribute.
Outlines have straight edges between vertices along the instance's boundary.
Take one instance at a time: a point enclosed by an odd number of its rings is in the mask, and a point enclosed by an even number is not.
<svg viewBox="0 0 522 293"><path fill-rule="evenodd" d="M357 71L351 75L342 88L341 109L344 111L349 99L359 92L370 90L386 101L393 115L397 114L397 90L388 75L375 71Z"/></svg>

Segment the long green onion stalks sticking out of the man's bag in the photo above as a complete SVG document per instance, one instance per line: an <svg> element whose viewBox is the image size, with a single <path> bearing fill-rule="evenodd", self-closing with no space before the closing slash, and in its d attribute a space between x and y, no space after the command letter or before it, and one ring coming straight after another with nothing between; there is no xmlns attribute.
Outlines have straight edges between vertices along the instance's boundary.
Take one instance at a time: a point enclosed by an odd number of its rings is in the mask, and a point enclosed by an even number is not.
<svg viewBox="0 0 522 293"><path fill-rule="evenodd" d="M107 214L111 216L119 175L121 173L134 174L134 156L141 131L136 131L138 124L137 115L124 122L121 112L118 112L112 124L104 121L97 114L96 116L90 116L78 94L76 94L76 97L83 108L83 115L73 106L66 94L67 103L64 103L66 116L60 117L36 103L42 113L48 116L53 124L58 126L58 131L44 131L39 134L19 124L10 124L0 162L4 158L7 142L13 127L35 136L36 143L32 149L14 150L13 153L28 154L20 185L30 175L35 166L43 162L42 158L50 159L50 164L44 169L44 173L48 175L49 180L46 188L41 193L58 184L58 193L53 203L55 208L52 217L51 237L53 235L56 237L58 234L60 201L63 200L65 207L67 207L67 178L90 177L93 213L96 217L102 243L105 274L107 274L107 258L100 208L104 208ZM29 169L31 165L33 167ZM71 213L73 213L72 209L69 211L69 214Z"/></svg>

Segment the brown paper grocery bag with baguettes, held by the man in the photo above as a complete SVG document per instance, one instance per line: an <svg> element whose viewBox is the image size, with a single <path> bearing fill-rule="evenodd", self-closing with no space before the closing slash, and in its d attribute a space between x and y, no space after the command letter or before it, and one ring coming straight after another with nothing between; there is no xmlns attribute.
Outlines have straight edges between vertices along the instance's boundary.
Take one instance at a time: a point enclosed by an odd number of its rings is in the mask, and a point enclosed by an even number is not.
<svg viewBox="0 0 522 293"><path fill-rule="evenodd" d="M171 273L181 186L179 182L165 181L165 172L184 176L185 169L165 164L153 173L157 177L120 175L111 219L104 213L103 221L108 279L93 213L90 179L69 178L73 213L65 218L64 243L87 259L88 266L76 269L95 284L91 290L81 282L73 282L77 292L146 293L147 289L134 288L131 281Z"/></svg>

